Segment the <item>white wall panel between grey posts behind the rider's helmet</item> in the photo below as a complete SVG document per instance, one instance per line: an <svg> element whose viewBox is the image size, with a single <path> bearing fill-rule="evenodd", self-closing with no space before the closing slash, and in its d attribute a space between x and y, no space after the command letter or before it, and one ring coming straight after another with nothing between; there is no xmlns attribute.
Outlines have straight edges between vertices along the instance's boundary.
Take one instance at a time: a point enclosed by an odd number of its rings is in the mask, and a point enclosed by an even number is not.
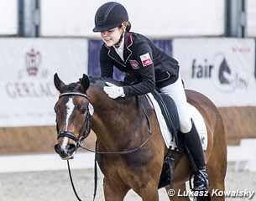
<svg viewBox="0 0 256 201"><path fill-rule="evenodd" d="M94 15L106 0L41 1L42 36L99 37ZM122 0L132 31L149 37L218 36L224 33L222 0Z"/></svg>

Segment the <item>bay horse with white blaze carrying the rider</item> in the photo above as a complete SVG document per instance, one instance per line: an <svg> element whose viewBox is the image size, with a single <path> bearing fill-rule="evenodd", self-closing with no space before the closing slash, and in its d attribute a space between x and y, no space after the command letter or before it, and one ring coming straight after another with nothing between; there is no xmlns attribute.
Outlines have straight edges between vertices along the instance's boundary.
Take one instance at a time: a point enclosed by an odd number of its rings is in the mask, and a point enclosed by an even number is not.
<svg viewBox="0 0 256 201"><path fill-rule="evenodd" d="M107 79L83 75L80 82L65 85L55 74L60 96L55 104L57 143L62 159L74 157L90 133L97 136L96 158L103 178L106 201L121 201L131 188L144 201L159 200L159 178L168 148L159 129L154 108L145 95L112 100L102 90ZM120 85L112 80L112 83ZM205 151L210 195L225 190L227 144L222 116L206 96L185 90L188 102L200 111L206 123L208 146ZM175 152L175 151L174 151ZM170 200L190 200L179 196L191 175L184 152L174 154L174 185ZM169 187L165 187L169 190ZM175 192L175 193L174 193ZM179 192L179 193L178 193ZM212 196L212 200L224 200Z"/></svg>

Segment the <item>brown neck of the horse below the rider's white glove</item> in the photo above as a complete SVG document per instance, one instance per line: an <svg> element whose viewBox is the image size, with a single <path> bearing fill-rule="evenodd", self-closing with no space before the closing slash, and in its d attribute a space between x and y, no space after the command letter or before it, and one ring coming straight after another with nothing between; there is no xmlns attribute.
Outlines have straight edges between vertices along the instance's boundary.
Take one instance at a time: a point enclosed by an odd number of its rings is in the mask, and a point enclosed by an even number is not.
<svg viewBox="0 0 256 201"><path fill-rule="evenodd" d="M141 117L136 98L112 100L98 87L91 87L88 95L94 107L91 129L98 145L108 152L124 150L133 141L133 135L138 135L133 123Z"/></svg>

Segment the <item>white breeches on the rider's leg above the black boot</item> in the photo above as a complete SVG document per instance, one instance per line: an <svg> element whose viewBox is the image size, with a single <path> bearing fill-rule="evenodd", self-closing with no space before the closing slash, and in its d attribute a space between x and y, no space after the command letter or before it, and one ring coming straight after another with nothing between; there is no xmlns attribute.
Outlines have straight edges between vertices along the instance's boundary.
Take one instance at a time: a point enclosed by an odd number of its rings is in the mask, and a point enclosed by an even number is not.
<svg viewBox="0 0 256 201"><path fill-rule="evenodd" d="M175 105L177 107L178 115L180 118L180 131L183 133L188 133L191 131L191 114L187 109L188 103L180 75L175 83L160 88L159 90L164 94L170 95L170 97L175 101Z"/></svg>

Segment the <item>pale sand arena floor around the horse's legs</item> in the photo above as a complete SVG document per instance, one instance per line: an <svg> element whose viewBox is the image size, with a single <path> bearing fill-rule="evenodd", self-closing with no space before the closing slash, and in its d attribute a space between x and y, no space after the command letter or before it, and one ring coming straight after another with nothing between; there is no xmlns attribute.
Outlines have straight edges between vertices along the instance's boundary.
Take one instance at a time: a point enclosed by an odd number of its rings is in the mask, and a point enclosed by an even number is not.
<svg viewBox="0 0 256 201"><path fill-rule="evenodd" d="M81 199L92 200L94 189L93 169L74 169L72 171L76 190ZM104 200L102 191L102 174L98 173L97 201ZM251 191L253 198L234 197L229 201L256 200L256 173L227 172L227 191ZM0 200L3 201L65 201L76 200L71 188L67 170L29 173L0 173ZM125 201L141 200L132 191ZM159 190L159 200L169 200L165 189Z"/></svg>

